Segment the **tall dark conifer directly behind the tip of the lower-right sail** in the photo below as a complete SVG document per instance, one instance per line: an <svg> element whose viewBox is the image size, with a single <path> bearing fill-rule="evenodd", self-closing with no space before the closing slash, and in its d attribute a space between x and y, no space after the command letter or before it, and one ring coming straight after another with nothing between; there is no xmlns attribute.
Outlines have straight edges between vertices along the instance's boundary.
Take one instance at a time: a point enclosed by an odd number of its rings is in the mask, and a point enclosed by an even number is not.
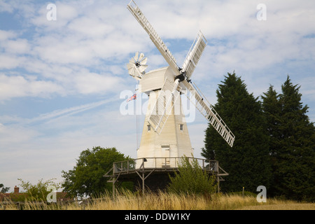
<svg viewBox="0 0 315 224"><path fill-rule="evenodd" d="M268 157L266 122L258 98L246 90L246 84L235 73L228 73L216 91L218 114L235 134L230 148L209 124L205 134L202 156L218 160L229 173L221 184L223 191L239 191L245 187L255 192L258 186L269 187L271 167Z"/></svg>

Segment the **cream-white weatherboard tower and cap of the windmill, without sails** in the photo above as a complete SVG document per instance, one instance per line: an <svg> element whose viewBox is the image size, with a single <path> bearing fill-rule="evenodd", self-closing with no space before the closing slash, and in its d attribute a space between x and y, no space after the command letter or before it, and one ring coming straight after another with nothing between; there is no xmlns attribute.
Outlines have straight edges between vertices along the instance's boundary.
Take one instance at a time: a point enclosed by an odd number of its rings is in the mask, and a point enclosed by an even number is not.
<svg viewBox="0 0 315 224"><path fill-rule="evenodd" d="M174 73L169 67L146 73L140 82L141 91L149 94L149 100L137 158L147 158L146 168L162 168L165 165L176 167L175 160L153 160L151 158L178 158L183 155L189 157L193 155L186 119L181 109L181 97L176 100L174 109L162 132L158 134L154 132L153 128L148 130L151 105L154 106L166 76L174 79ZM137 162L137 168L141 166L141 163L141 160Z"/></svg>

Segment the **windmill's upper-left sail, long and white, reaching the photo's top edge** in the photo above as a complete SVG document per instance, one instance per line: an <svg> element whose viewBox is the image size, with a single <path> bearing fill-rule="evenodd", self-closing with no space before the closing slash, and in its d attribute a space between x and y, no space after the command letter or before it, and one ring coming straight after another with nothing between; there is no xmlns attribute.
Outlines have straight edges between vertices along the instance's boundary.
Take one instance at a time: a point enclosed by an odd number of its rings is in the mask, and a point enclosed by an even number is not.
<svg viewBox="0 0 315 224"><path fill-rule="evenodd" d="M139 24L144 28L144 30L148 33L148 35L151 38L151 41L155 44L155 46L160 51L161 55L165 58L167 63L169 63L169 66L172 67L174 72L179 73L179 66L176 64L176 59L172 55L172 53L169 51L165 43L162 41L158 33L153 29L152 25L146 17L144 16L144 13L141 12L140 8L137 6L137 4L132 0L127 5L127 8L130 10L130 13L134 15L134 18L139 22Z"/></svg>

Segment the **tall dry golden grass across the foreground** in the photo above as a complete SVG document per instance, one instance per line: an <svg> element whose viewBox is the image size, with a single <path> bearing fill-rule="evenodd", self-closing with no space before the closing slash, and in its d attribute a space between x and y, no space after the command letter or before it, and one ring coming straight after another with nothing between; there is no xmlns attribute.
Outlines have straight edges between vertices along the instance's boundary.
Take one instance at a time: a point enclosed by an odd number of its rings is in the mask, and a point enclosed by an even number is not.
<svg viewBox="0 0 315 224"><path fill-rule="evenodd" d="M16 210L15 205L1 205L0 209ZM146 194L121 193L113 200L111 195L104 195L85 204L41 205L29 202L25 210L315 210L314 203L293 202L289 200L267 199L258 203L253 196L241 195L176 195L170 193Z"/></svg>

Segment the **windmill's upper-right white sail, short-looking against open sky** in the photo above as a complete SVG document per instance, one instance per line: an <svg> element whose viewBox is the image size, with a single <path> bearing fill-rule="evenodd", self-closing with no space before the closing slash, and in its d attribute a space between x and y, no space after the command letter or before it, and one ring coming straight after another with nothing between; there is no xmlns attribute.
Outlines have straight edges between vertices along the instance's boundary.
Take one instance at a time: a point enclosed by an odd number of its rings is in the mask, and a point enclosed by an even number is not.
<svg viewBox="0 0 315 224"><path fill-rule="evenodd" d="M206 45L207 39L204 38L204 34L199 31L199 33L197 34L197 38L195 39L183 63L183 72L186 72L186 77L188 79L190 79L193 72L195 71L195 67L199 62L199 59L202 55L202 52L204 52L204 48L206 48Z"/></svg>

